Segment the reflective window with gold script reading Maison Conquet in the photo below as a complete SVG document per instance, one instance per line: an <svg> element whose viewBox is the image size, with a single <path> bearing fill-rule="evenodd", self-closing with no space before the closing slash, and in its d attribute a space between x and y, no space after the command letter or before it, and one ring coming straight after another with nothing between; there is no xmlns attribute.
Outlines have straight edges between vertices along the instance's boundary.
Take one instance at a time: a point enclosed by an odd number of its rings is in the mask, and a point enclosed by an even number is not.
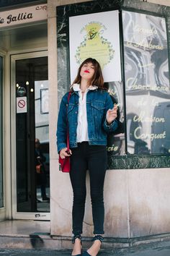
<svg viewBox="0 0 170 256"><path fill-rule="evenodd" d="M165 19L122 12L122 20L128 153L170 153Z"/></svg>

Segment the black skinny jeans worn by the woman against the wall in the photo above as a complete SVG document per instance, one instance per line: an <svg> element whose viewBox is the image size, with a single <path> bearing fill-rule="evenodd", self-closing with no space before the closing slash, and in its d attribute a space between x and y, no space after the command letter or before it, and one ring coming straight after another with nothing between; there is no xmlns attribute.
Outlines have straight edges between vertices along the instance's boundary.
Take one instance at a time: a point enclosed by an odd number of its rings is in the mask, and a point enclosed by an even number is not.
<svg viewBox="0 0 170 256"><path fill-rule="evenodd" d="M89 170L90 195L94 234L104 234L104 176L107 169L107 149L102 145L78 143L71 148L71 184L73 187L73 234L81 234L86 201L86 170Z"/></svg>

